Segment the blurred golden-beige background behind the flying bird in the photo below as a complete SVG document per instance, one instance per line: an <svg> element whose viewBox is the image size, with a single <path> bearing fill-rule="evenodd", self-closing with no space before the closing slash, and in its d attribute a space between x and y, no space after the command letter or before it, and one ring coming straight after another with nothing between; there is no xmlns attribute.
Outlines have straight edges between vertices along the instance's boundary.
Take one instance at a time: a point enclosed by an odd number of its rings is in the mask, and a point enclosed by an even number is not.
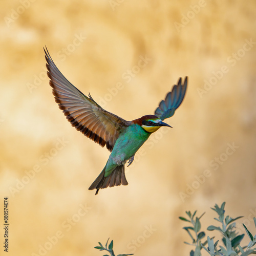
<svg viewBox="0 0 256 256"><path fill-rule="evenodd" d="M116 255L188 255L178 216L206 211L206 229L217 225L210 207L223 201L227 214L244 216L241 232L244 222L255 233L255 1L0 7L0 195L9 198L10 255L103 255L94 246L109 237ZM88 190L109 152L58 109L45 45L67 79L126 120L153 114L189 77L185 100L166 120L174 128L142 146L126 168L128 186Z"/></svg>

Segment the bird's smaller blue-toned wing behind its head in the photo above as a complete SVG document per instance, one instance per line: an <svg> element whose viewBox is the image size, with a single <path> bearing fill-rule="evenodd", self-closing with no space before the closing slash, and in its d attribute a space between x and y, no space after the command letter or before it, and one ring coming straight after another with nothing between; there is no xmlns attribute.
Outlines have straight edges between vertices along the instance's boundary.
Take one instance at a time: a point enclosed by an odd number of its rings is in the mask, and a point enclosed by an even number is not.
<svg viewBox="0 0 256 256"><path fill-rule="evenodd" d="M175 86L173 87L173 90L167 93L165 100L162 100L159 103L159 106L155 111L155 116L159 117L161 120L173 116L175 110L179 108L179 105L184 99L186 89L187 76L185 77L183 84L180 78L178 84L175 84Z"/></svg>

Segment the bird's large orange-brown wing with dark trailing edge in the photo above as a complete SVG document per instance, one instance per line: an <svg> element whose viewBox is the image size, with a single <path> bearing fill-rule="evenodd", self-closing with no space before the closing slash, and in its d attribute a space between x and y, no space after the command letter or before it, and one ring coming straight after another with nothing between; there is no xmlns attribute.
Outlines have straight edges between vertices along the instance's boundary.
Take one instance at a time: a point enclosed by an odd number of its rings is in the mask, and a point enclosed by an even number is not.
<svg viewBox="0 0 256 256"><path fill-rule="evenodd" d="M52 93L59 108L77 131L102 147L106 145L111 152L119 133L131 122L103 110L90 94L89 97L82 94L61 74L47 48L45 54L50 86L53 88Z"/></svg>

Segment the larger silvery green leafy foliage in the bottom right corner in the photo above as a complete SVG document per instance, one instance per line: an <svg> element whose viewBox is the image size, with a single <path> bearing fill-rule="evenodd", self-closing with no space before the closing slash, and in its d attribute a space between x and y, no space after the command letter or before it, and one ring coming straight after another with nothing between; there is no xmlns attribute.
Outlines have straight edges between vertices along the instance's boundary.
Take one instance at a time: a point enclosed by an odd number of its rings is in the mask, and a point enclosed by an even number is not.
<svg viewBox="0 0 256 256"><path fill-rule="evenodd" d="M253 237L250 231L246 228L243 224L247 235L250 238L250 242L248 246L241 247L240 242L244 238L244 234L238 234L236 232L236 221L237 219L242 218L242 216L237 218L231 218L229 216L225 217L225 202L222 203L221 207L217 204L212 210L216 211L218 214L218 218L214 218L218 222L220 222L220 226L210 225L207 230L217 230L222 234L222 243L223 245L218 245L219 240L214 242L214 237L210 238L207 236L207 240L202 242L202 239L205 237L205 232L200 231L201 223L200 219L204 215L202 214L199 218L196 217L196 212L191 214L190 211L186 211L186 215L188 218L179 217L182 221L189 222L191 225L184 227L184 229L189 234L189 237L192 239L191 243L187 243L189 245L195 246L195 250L190 251L190 256L201 256L201 249L203 248L205 251L210 254L210 256L215 255L224 255L224 256L231 256L231 255L239 255L239 256L247 256L250 254L256 254L256 248L254 245L256 244L256 235ZM256 227L256 218L253 218L254 224ZM207 248L205 247L207 245Z"/></svg>

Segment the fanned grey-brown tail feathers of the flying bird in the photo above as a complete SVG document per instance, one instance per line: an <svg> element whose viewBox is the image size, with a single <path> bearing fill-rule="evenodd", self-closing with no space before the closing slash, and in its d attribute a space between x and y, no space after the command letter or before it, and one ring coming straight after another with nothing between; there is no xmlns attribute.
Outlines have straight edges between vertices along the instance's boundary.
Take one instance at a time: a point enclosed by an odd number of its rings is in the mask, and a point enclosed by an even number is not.
<svg viewBox="0 0 256 256"><path fill-rule="evenodd" d="M89 190L97 189L95 195L98 194L100 188L114 187L122 185L128 185L128 182L124 174L124 164L116 166L112 173L108 177L104 177L105 167L96 178L93 184L89 187Z"/></svg>

